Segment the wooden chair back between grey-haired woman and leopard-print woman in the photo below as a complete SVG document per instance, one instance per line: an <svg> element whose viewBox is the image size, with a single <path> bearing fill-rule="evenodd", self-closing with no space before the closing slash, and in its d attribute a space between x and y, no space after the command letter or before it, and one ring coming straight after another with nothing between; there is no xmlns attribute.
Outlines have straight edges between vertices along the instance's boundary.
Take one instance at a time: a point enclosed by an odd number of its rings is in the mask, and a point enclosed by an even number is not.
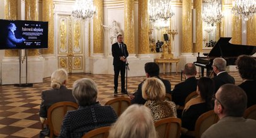
<svg viewBox="0 0 256 138"><path fill-rule="evenodd" d="M116 97L106 102L105 105L113 107L118 117L131 105L131 99L128 97Z"/></svg>

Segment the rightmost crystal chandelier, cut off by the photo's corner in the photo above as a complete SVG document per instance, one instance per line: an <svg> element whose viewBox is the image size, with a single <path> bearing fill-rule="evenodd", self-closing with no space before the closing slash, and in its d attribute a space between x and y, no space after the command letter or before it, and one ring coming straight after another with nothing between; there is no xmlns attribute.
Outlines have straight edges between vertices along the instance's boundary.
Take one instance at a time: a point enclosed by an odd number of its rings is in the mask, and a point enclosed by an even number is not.
<svg viewBox="0 0 256 138"><path fill-rule="evenodd" d="M235 0L233 1L232 13L239 18L248 21L256 13L255 0Z"/></svg>

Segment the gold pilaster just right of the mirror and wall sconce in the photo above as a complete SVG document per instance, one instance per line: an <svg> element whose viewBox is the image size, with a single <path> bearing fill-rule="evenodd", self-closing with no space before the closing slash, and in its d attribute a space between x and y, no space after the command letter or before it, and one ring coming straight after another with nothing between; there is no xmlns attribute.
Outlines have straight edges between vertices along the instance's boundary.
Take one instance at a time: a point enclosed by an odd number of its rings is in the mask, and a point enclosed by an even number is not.
<svg viewBox="0 0 256 138"><path fill-rule="evenodd" d="M182 53L192 53L191 1L182 1Z"/></svg>

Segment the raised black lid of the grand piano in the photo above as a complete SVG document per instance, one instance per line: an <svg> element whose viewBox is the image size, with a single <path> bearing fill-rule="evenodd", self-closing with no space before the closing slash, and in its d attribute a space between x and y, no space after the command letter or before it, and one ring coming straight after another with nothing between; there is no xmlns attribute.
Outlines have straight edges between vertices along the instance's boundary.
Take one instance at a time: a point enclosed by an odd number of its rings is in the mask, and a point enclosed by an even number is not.
<svg viewBox="0 0 256 138"><path fill-rule="evenodd" d="M235 45L229 43L230 40L231 38L220 38L209 52L208 57L253 55L256 52L256 46Z"/></svg>

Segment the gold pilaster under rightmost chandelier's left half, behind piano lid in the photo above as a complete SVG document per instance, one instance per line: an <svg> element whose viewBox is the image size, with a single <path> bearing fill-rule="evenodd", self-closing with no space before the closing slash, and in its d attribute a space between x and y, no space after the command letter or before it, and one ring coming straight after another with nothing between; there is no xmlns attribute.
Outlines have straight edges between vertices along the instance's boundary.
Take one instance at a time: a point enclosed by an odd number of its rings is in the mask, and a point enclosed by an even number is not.
<svg viewBox="0 0 256 138"><path fill-rule="evenodd" d="M232 39L233 44L242 44L242 19L239 17L232 17Z"/></svg>

